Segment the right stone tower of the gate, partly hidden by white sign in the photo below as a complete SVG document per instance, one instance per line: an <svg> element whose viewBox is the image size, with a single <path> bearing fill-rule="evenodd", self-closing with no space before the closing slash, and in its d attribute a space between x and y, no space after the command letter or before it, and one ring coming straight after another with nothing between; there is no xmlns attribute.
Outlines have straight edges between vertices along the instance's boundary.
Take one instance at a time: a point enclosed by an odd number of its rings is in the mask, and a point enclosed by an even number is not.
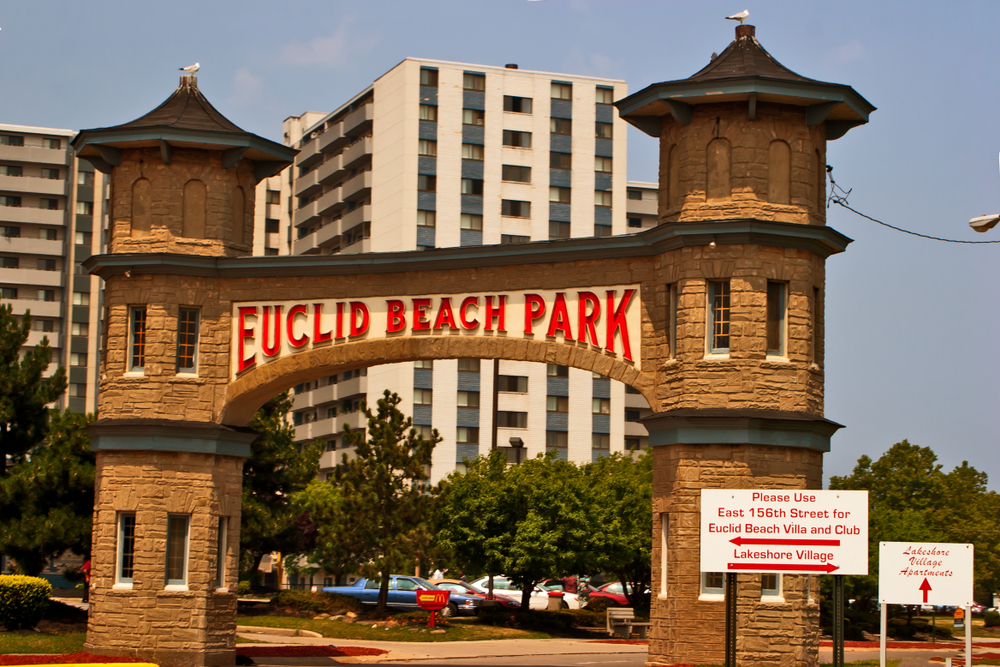
<svg viewBox="0 0 1000 667"><path fill-rule="evenodd" d="M699 571L700 490L822 485L839 427L823 417L824 265L849 239L801 232L825 225L826 142L874 107L782 66L750 25L693 76L616 106L660 139L660 223L703 235L662 258L649 660L721 663L723 576ZM739 664L818 664L818 578L740 575L737 627Z"/></svg>

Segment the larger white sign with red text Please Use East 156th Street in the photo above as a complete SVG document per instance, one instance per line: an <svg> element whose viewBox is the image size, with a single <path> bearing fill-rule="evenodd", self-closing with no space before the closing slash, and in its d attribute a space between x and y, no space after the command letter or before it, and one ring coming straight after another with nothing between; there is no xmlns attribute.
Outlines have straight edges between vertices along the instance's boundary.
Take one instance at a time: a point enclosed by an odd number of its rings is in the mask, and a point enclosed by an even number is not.
<svg viewBox="0 0 1000 667"><path fill-rule="evenodd" d="M868 492L702 489L701 571L868 574Z"/></svg>

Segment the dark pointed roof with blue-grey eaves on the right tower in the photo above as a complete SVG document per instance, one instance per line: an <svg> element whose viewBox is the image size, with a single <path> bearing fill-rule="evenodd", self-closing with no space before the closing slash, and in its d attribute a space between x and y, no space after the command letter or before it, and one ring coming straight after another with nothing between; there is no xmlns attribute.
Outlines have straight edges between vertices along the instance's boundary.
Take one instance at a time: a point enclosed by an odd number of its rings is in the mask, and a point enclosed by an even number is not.
<svg viewBox="0 0 1000 667"><path fill-rule="evenodd" d="M839 139L868 122L875 107L850 86L810 79L788 69L761 46L752 25L736 27L736 38L719 56L686 79L664 81L615 103L623 119L659 136L661 116L691 121L691 108L746 100L753 120L757 102L806 107L808 125L826 122L826 138Z"/></svg>

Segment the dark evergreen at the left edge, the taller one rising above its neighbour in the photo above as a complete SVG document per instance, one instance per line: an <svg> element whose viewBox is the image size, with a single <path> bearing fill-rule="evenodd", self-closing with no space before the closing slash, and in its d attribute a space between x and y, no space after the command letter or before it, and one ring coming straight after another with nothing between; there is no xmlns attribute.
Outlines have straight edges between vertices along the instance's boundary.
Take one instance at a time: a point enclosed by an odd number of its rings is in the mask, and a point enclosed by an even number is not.
<svg viewBox="0 0 1000 667"><path fill-rule="evenodd" d="M66 391L63 367L42 377L52 360L48 337L21 356L31 332L31 313L19 323L12 312L12 306L0 305L0 477L45 439L48 405Z"/></svg>

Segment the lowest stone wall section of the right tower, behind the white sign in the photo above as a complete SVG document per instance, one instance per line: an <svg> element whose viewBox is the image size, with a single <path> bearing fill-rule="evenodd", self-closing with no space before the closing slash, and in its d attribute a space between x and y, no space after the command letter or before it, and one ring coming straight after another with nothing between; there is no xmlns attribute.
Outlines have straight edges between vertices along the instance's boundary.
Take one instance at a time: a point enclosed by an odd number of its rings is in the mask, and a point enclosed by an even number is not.
<svg viewBox="0 0 1000 667"><path fill-rule="evenodd" d="M648 664L721 664L725 660L725 602L701 594L701 489L819 489L822 465L822 454L805 448L672 445L654 449L654 596ZM665 584L664 518L669 526ZM784 602L765 602L761 600L761 575L738 575L738 664L818 664L818 578L785 575L782 579Z"/></svg>

